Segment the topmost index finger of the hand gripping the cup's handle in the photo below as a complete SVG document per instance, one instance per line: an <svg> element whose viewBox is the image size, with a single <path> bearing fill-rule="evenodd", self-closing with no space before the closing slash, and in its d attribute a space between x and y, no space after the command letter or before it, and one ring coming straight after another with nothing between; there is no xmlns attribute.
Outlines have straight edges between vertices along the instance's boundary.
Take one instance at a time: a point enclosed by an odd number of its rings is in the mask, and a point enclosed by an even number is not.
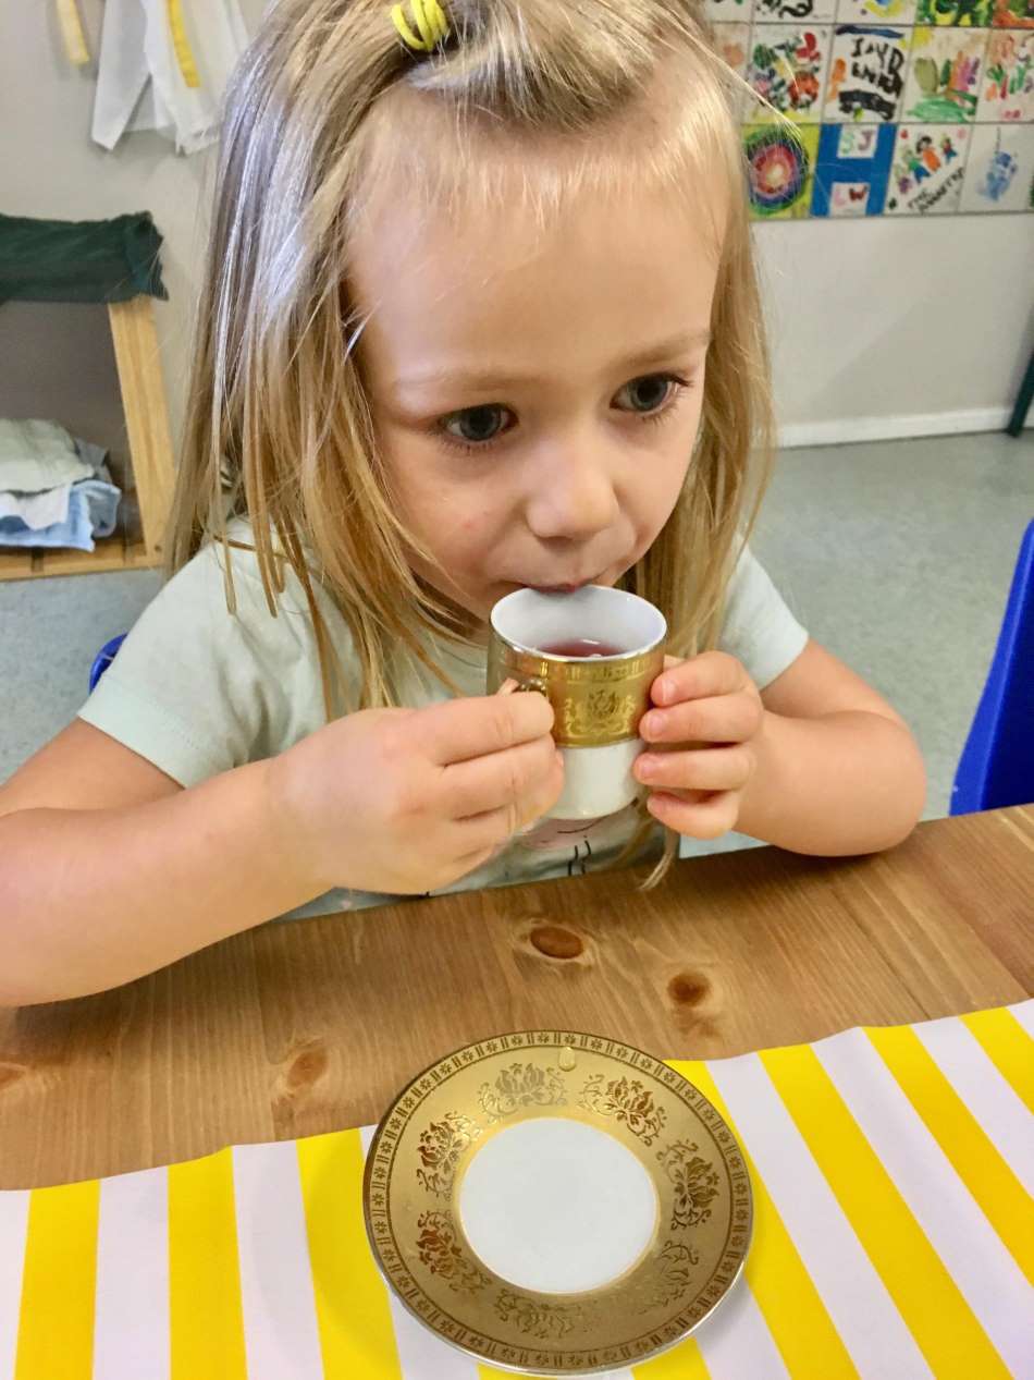
<svg viewBox="0 0 1034 1380"><path fill-rule="evenodd" d="M409 729L419 733L423 751L438 766L505 752L545 737L551 727L553 707L536 691L447 700L409 718Z"/></svg>

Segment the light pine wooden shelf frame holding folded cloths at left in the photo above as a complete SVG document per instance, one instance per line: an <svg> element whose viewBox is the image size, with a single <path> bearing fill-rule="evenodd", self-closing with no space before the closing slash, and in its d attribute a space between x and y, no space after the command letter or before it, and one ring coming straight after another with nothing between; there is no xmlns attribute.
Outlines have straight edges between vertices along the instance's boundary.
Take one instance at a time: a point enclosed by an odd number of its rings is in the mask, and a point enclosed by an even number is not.
<svg viewBox="0 0 1034 1380"><path fill-rule="evenodd" d="M0 548L0 580L142 570L161 564L175 469L154 327L154 301L141 295L128 302L109 302L108 322L119 370L143 540L131 542L119 534L103 537L97 542L95 551Z"/></svg>

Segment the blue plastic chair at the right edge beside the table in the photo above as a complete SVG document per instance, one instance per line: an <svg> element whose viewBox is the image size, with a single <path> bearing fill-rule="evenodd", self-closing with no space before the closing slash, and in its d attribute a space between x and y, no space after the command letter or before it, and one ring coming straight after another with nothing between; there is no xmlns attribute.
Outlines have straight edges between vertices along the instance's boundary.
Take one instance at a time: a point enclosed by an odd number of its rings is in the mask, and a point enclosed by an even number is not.
<svg viewBox="0 0 1034 1380"><path fill-rule="evenodd" d="M951 814L1034 802L1034 522L951 789Z"/></svg>

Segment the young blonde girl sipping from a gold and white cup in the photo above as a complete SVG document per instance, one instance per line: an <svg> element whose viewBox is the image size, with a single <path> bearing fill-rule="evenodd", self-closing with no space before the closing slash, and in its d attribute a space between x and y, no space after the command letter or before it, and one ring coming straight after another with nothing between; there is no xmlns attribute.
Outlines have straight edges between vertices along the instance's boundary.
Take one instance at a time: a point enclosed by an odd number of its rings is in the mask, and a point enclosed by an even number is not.
<svg viewBox="0 0 1034 1380"><path fill-rule="evenodd" d="M0 792L0 1002L612 861L634 809L525 828L561 787L551 711L484 694L523 585L666 614L637 776L670 838L911 829L909 730L744 546L769 404L731 87L691 0L267 15L229 98L172 580Z"/></svg>

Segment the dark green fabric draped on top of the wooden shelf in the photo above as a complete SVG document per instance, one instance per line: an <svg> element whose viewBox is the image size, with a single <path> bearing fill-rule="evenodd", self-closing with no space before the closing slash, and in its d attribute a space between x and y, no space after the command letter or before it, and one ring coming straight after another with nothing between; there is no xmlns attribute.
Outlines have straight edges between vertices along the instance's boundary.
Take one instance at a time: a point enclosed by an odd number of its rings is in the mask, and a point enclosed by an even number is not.
<svg viewBox="0 0 1034 1380"><path fill-rule="evenodd" d="M110 221L0 215L0 302L168 299L150 211Z"/></svg>

